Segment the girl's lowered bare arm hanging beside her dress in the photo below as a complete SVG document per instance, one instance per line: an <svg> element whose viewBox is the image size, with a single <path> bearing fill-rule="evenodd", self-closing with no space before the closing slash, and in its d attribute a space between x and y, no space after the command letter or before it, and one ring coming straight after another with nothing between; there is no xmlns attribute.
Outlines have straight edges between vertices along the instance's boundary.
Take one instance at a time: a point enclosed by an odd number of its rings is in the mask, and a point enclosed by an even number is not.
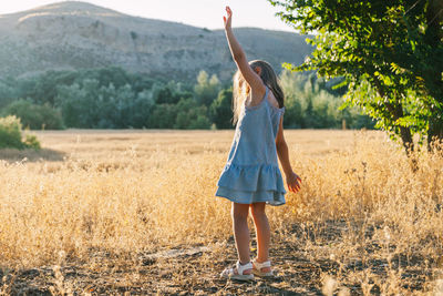
<svg viewBox="0 0 443 296"><path fill-rule="evenodd" d="M300 190L301 178L292 172L292 167L289 162L289 150L288 144L286 144L284 136L284 116L280 118L280 125L278 127L278 133L276 136L276 147L277 155L280 160L281 166L284 169L286 175L286 183L288 185L289 191L297 193Z"/></svg>

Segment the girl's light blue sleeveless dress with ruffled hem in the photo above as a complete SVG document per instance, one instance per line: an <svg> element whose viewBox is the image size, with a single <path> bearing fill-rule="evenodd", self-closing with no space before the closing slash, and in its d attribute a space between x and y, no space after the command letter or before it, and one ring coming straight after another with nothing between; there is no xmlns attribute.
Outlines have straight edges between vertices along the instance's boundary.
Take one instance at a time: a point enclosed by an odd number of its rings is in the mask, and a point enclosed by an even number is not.
<svg viewBox="0 0 443 296"><path fill-rule="evenodd" d="M239 204L286 203L276 149L276 136L285 106L270 104L268 93L269 89L266 88L265 98L258 105L244 105L215 196Z"/></svg>

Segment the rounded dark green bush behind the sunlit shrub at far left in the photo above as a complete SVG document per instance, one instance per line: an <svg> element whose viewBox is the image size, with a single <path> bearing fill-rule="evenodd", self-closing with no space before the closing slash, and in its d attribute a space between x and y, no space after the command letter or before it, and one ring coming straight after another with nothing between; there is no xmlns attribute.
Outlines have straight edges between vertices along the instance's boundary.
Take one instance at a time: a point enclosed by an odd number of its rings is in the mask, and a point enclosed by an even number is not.
<svg viewBox="0 0 443 296"><path fill-rule="evenodd" d="M4 108L3 115L20 118L23 126L31 130L61 130L63 120L60 112L48 105L37 105L25 100L18 100Z"/></svg>

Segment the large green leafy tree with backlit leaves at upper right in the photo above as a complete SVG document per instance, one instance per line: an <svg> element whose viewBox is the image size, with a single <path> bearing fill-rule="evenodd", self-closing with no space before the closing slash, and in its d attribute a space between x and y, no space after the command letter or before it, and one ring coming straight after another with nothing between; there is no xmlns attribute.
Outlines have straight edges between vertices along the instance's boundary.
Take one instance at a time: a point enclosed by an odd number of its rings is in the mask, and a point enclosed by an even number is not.
<svg viewBox="0 0 443 296"><path fill-rule="evenodd" d="M413 147L419 133L443 139L443 2L439 0L271 1L316 50L302 65L349 83L348 105ZM343 83L343 84L344 84Z"/></svg>

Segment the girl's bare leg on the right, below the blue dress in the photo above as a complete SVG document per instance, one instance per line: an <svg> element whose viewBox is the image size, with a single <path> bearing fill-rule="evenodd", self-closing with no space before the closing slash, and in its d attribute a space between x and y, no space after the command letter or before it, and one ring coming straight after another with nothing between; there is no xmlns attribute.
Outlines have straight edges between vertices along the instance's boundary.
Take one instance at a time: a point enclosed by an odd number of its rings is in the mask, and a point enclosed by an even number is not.
<svg viewBox="0 0 443 296"><path fill-rule="evenodd" d="M266 203L254 203L250 205L257 235L257 262L264 263L269 259L270 227L265 212ZM269 273L269 267L261 268L262 273Z"/></svg>

